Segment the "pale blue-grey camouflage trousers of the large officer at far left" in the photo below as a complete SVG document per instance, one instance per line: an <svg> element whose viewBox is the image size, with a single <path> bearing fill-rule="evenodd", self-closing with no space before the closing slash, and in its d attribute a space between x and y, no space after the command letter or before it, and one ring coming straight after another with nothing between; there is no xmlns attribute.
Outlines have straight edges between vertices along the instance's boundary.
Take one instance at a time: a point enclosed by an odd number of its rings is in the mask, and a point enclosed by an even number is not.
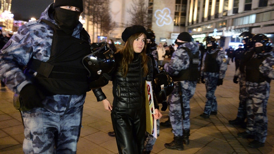
<svg viewBox="0 0 274 154"><path fill-rule="evenodd" d="M22 112L24 153L76 153L83 106L67 115L56 115L44 108Z"/></svg>

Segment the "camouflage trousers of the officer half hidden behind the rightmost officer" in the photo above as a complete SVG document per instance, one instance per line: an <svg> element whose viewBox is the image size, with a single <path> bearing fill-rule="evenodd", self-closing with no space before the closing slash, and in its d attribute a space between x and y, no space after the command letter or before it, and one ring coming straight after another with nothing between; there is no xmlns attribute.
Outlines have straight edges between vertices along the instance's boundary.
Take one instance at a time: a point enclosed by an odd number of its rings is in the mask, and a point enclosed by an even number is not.
<svg viewBox="0 0 274 154"><path fill-rule="evenodd" d="M246 118L246 86L245 86L245 74L240 73L239 75L239 85L240 85L240 94L239 94L239 107L237 117Z"/></svg>

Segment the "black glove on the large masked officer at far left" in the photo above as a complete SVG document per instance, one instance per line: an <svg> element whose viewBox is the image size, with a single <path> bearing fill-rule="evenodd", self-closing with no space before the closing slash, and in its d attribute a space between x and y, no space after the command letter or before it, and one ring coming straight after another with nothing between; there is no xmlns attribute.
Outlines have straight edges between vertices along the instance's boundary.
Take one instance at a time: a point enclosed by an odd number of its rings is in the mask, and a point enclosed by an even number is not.
<svg viewBox="0 0 274 154"><path fill-rule="evenodd" d="M42 100L45 99L43 93L32 84L25 85L20 91L22 110L31 110L34 107L42 107Z"/></svg>

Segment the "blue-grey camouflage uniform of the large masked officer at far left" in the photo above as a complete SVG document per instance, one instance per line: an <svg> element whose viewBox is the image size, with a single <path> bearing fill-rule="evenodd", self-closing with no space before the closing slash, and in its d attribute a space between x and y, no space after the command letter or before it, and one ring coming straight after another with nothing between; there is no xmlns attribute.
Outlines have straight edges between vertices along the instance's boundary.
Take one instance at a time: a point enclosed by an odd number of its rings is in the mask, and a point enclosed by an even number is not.
<svg viewBox="0 0 274 154"><path fill-rule="evenodd" d="M19 66L26 66L31 58L43 62L49 60L53 29L41 19L55 23L49 17L52 5L47 7L39 20L21 26L1 50L0 78L15 93L32 83ZM80 38L82 26L81 23L77 25L73 37ZM106 98L103 94L101 96ZM22 111L24 153L76 153L85 97L86 94L47 96L41 102L44 107Z"/></svg>

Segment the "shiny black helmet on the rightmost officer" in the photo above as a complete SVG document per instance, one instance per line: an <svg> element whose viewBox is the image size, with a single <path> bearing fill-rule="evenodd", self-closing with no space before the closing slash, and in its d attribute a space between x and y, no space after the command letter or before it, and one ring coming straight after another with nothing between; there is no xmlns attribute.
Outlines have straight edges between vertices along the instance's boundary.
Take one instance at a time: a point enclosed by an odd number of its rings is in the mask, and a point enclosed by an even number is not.
<svg viewBox="0 0 274 154"><path fill-rule="evenodd" d="M266 37L264 34L257 34L252 37L252 42L253 42L253 47L256 42L262 43L263 44L263 50L265 52L270 52L272 47L272 40L268 37Z"/></svg>

